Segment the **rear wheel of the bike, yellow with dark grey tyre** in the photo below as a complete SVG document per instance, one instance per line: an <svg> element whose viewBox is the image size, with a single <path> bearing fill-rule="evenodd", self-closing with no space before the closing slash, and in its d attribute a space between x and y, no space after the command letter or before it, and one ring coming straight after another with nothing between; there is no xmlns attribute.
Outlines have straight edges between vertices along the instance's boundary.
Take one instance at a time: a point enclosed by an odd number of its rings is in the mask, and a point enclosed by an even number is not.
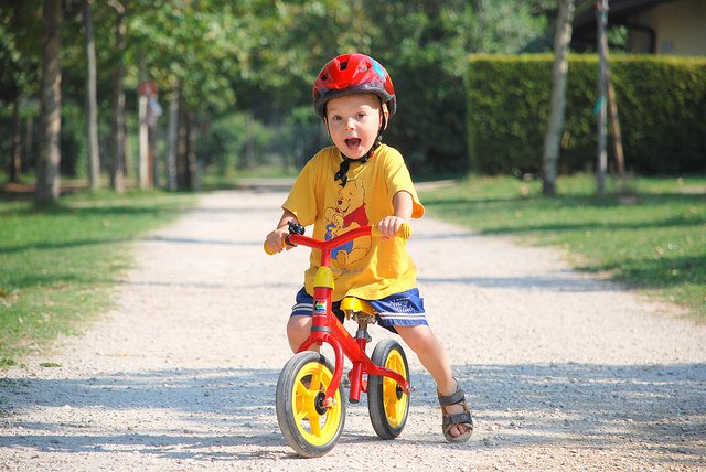
<svg viewBox="0 0 706 472"><path fill-rule="evenodd" d="M405 351L394 340L377 343L371 360L389 368L409 382L409 366ZM370 375L367 380L367 409L373 429L382 439L395 439L407 422L409 396L391 377Z"/></svg>

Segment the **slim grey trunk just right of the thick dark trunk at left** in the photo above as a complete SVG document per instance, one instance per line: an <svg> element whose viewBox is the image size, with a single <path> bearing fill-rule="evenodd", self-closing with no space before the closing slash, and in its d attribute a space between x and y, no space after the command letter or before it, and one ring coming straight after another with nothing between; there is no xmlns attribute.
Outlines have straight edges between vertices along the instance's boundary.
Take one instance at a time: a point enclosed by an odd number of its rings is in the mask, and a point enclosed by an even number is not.
<svg viewBox="0 0 706 472"><path fill-rule="evenodd" d="M88 181L90 190L100 186L100 151L98 150L98 100L96 87L96 42L93 33L90 1L84 0L84 39L86 54L86 136L88 138Z"/></svg>

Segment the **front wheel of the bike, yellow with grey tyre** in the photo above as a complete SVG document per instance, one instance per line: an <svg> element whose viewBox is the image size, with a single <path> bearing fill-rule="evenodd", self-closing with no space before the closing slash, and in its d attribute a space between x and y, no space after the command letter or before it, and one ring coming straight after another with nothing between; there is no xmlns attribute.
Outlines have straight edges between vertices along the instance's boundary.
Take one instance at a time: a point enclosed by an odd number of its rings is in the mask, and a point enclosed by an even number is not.
<svg viewBox="0 0 706 472"><path fill-rule="evenodd" d="M317 458L339 441L345 422L346 403L339 386L334 404L327 407L325 391L333 367L324 356L304 351L292 356L277 380L277 421L287 443L299 455Z"/></svg>

